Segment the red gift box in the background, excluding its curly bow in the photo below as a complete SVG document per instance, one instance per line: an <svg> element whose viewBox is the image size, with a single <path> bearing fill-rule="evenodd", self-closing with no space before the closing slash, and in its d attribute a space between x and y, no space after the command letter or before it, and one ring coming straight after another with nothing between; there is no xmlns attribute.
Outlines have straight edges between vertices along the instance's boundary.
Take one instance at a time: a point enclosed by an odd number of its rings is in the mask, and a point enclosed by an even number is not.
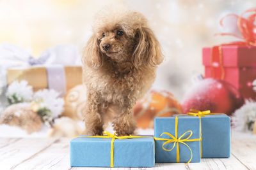
<svg viewBox="0 0 256 170"><path fill-rule="evenodd" d="M205 78L220 78L239 89L244 98L256 98L256 46L223 45L203 48Z"/></svg>

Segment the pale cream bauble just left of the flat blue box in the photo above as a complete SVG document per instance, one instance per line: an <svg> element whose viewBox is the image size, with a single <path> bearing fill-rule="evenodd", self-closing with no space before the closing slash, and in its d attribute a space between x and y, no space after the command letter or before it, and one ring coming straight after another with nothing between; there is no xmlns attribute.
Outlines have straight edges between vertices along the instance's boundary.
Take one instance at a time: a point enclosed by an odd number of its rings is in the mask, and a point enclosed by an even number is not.
<svg viewBox="0 0 256 170"><path fill-rule="evenodd" d="M76 121L68 117L61 117L55 121L47 136L54 138L75 138L81 132L81 128L77 125Z"/></svg>

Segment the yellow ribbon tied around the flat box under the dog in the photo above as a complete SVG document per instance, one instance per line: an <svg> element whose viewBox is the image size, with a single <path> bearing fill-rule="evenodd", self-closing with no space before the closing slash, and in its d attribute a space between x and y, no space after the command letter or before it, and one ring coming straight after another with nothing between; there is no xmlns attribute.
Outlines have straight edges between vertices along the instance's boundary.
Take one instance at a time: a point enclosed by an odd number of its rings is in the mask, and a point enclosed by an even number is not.
<svg viewBox="0 0 256 170"><path fill-rule="evenodd" d="M147 136L116 136L116 133L111 134L107 131L103 132L104 136L77 136L77 138L112 138L111 140L111 152L110 152L110 167L114 167L114 141L115 139L131 139L131 138L152 138Z"/></svg>

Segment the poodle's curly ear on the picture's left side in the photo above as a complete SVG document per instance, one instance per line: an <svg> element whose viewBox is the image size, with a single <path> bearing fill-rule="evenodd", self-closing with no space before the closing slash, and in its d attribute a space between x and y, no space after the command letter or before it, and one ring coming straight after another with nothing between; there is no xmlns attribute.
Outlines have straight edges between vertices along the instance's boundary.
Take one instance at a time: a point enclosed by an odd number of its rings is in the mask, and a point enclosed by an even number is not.
<svg viewBox="0 0 256 170"><path fill-rule="evenodd" d="M103 57L103 53L100 52L99 48L99 40L93 34L84 48L82 62L88 67L97 68L102 66Z"/></svg>

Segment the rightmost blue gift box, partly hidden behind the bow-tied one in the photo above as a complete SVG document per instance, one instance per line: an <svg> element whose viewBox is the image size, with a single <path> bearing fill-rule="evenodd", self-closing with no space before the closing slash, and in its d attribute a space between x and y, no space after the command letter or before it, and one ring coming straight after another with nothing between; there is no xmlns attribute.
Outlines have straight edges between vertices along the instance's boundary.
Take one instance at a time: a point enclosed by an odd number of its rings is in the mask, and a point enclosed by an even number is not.
<svg viewBox="0 0 256 170"><path fill-rule="evenodd" d="M202 121L202 158L230 157L230 117L205 115Z"/></svg>

